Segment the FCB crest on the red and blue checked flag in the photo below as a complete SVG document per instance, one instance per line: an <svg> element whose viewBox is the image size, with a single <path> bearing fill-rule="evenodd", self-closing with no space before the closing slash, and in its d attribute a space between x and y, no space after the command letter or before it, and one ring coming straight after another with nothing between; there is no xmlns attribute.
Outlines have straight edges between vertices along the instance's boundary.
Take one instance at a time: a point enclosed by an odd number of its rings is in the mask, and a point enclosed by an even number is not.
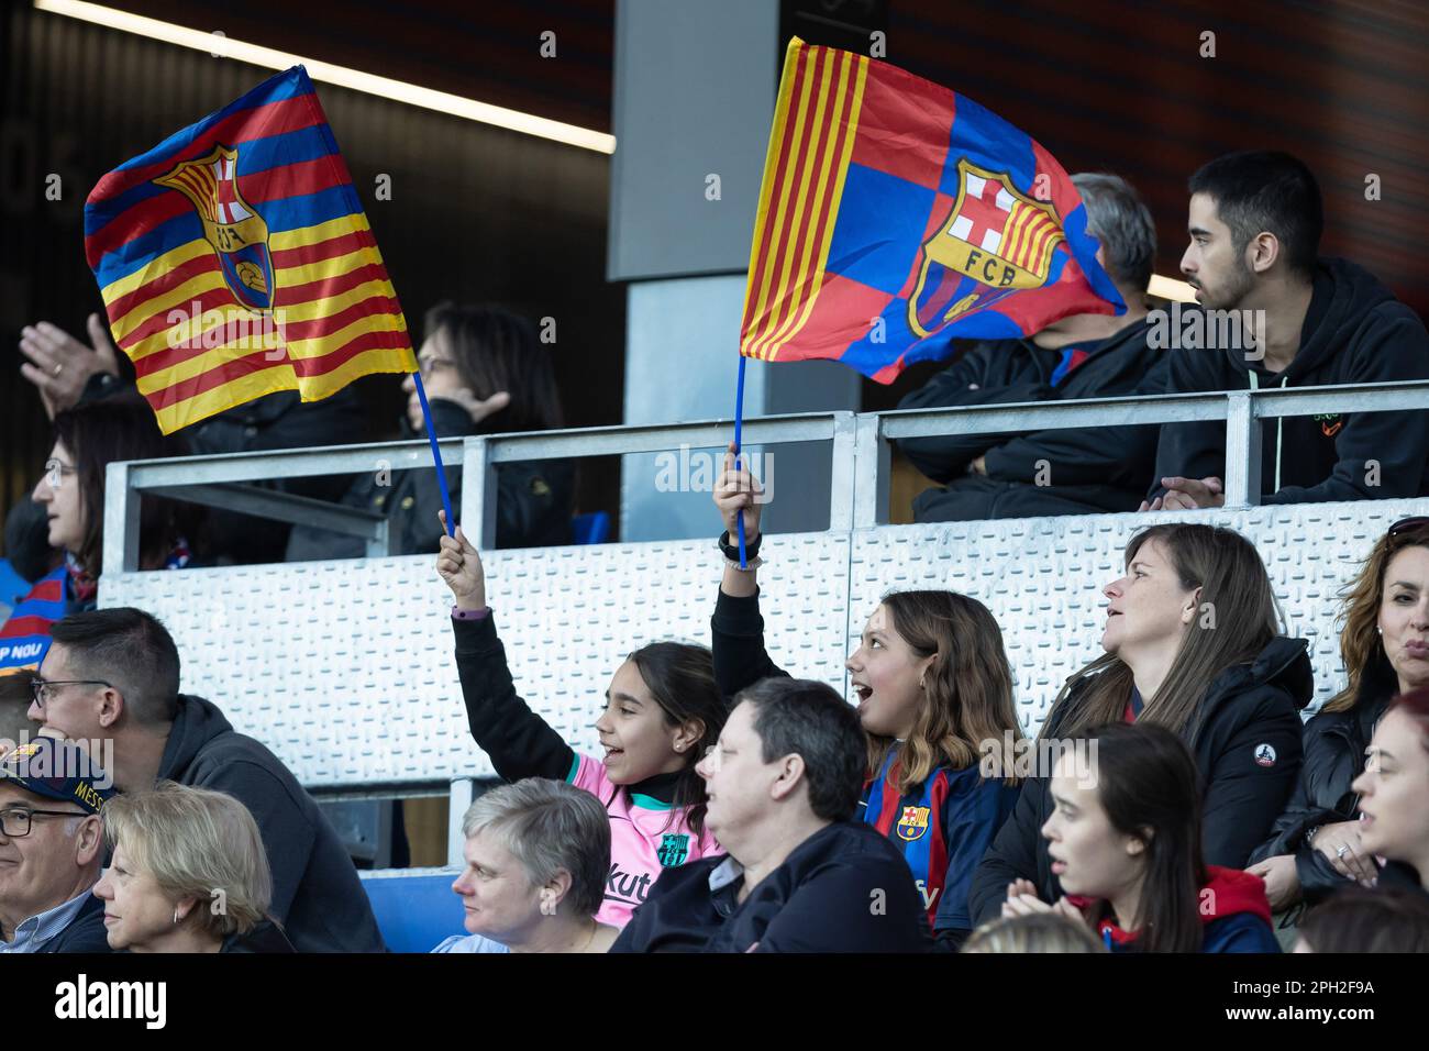
<svg viewBox="0 0 1429 1051"><path fill-rule="evenodd" d="M907 323L926 336L945 322L1047 282L1052 252L1066 240L1057 213L1019 193L1006 172L957 162L957 199L923 243Z"/></svg>

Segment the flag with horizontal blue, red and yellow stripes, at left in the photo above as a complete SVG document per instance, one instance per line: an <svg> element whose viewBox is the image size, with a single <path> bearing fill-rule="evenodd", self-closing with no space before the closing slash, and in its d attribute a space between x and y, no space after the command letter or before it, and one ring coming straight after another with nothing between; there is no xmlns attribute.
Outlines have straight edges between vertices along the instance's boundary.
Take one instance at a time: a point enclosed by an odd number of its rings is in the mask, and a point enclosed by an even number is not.
<svg viewBox="0 0 1429 1051"><path fill-rule="evenodd" d="M302 66L99 180L84 250L167 435L276 390L414 372L407 322Z"/></svg>

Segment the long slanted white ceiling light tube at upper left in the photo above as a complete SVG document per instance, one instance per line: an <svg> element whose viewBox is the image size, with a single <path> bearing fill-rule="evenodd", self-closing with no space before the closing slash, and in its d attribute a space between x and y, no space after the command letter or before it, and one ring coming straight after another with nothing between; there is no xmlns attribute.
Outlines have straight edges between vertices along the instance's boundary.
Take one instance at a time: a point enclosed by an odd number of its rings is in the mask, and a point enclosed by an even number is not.
<svg viewBox="0 0 1429 1051"><path fill-rule="evenodd" d="M159 19L146 19L141 14L130 14L129 11L104 7L103 4L84 3L84 0L34 0L34 9L50 14L63 14L69 19L79 19L80 21L90 21L106 29L117 29L123 33L163 40L166 44L191 47L196 51L209 51L214 56L237 59L253 66L276 70L284 70L290 66L306 66L307 76L313 80L337 84L353 92L366 92L380 99L392 99L409 106L436 110L437 113L450 113L454 117L466 117L483 124L496 124L497 127L520 132L522 134L533 134L540 139L566 143L567 146L579 146L583 150L594 150L596 153L616 152L616 137L604 132L593 132L589 127L576 127L559 120L547 120L532 113L509 110L504 106L492 106L474 99L463 99L459 94L433 92L430 87L419 87L403 80L379 77L373 73L334 66L317 59L304 59L300 54L279 51L273 47L246 44L242 40L233 40L217 33L204 33L203 30L176 26L171 21L160 21Z"/></svg>

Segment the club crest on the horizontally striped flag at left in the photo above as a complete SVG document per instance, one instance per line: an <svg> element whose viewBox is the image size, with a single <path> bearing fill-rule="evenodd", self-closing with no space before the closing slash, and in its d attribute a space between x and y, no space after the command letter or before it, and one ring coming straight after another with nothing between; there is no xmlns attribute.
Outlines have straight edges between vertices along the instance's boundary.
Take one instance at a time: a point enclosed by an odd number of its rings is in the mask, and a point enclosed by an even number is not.
<svg viewBox="0 0 1429 1051"><path fill-rule="evenodd" d="M194 206L203 236L219 256L223 280L240 306L273 306L273 257L267 223L239 192L239 152L216 146L213 153L186 160L154 179L179 190Z"/></svg>

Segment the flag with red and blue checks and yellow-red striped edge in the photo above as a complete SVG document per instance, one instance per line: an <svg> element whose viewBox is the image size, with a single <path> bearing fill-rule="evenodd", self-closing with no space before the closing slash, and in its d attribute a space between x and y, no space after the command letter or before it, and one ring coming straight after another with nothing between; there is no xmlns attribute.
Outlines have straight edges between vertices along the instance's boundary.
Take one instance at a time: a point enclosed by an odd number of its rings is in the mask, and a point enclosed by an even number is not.
<svg viewBox="0 0 1429 1051"><path fill-rule="evenodd" d="M890 383L952 339L1125 313L1086 209L1035 140L887 63L785 57L740 353L827 357Z"/></svg>

